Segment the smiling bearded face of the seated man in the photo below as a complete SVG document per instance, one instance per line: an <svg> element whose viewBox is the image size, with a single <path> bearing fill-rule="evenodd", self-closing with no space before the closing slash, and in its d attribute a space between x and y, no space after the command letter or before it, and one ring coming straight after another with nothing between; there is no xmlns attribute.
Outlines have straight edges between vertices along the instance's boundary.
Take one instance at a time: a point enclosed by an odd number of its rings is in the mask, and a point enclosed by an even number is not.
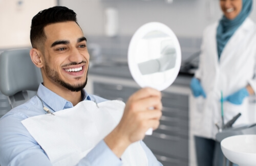
<svg viewBox="0 0 256 166"><path fill-rule="evenodd" d="M43 56L45 86L61 85L80 91L87 82L90 58L80 27L68 21L48 25L44 31L47 37Z"/></svg>

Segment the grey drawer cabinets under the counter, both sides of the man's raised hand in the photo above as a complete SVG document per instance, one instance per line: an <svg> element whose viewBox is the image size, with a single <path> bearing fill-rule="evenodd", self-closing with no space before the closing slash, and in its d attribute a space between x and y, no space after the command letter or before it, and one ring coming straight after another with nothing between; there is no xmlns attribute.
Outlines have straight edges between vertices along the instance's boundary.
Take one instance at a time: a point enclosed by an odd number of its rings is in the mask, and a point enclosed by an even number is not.
<svg viewBox="0 0 256 166"><path fill-rule="evenodd" d="M140 87L132 79L89 76L87 91L109 100L127 99ZM179 89L180 88L180 89ZM183 92L181 92L183 89ZM162 117L152 135L143 139L163 165L189 165L189 93L183 87L162 91Z"/></svg>

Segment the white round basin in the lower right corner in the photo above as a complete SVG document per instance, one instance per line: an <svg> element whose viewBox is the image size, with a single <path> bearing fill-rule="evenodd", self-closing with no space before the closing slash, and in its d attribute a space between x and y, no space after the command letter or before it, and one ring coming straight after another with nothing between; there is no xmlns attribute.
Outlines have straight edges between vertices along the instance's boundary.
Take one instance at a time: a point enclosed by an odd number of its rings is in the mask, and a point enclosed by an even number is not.
<svg viewBox="0 0 256 166"><path fill-rule="evenodd" d="M239 166L255 166L256 135L235 135L221 141L224 156Z"/></svg>

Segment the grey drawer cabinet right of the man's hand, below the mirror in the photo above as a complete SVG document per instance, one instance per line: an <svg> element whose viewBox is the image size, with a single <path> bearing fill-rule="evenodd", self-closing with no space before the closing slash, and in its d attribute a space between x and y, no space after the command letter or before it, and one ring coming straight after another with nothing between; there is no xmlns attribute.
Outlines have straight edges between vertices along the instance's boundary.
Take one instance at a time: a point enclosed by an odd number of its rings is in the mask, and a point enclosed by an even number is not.
<svg viewBox="0 0 256 166"><path fill-rule="evenodd" d="M159 128L144 142L163 165L188 165L188 96L163 91L162 104Z"/></svg>

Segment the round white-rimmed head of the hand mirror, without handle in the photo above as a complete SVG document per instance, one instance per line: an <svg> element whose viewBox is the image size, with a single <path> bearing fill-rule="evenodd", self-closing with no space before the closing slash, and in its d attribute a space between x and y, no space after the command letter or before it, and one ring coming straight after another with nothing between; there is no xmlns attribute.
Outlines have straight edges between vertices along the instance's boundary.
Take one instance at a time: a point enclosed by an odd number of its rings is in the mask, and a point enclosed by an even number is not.
<svg viewBox="0 0 256 166"><path fill-rule="evenodd" d="M158 90L169 87L178 76L181 65L181 49L176 35L163 23L146 23L130 41L128 64L134 80L141 87Z"/></svg>

